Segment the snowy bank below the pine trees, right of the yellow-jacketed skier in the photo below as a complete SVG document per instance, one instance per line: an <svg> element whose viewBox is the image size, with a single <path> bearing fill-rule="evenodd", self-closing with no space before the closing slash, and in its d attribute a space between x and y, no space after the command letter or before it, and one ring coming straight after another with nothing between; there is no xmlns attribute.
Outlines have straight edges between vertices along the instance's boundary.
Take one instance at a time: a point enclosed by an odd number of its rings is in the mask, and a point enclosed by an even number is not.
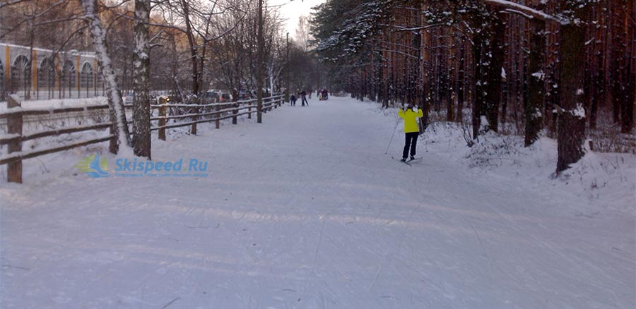
<svg viewBox="0 0 636 309"><path fill-rule="evenodd" d="M520 136L491 132L481 136L473 147L467 147L461 127L457 123L442 122L432 123L421 141L425 149L447 154L453 162L466 166L470 173L496 176L545 195L567 193L572 200L580 201L564 203L564 206L575 206L568 211L591 216L602 210L636 214L632 204L636 200L636 156L633 154L587 149L583 159L555 176L557 143L551 138L543 137L531 147L524 147Z"/></svg>

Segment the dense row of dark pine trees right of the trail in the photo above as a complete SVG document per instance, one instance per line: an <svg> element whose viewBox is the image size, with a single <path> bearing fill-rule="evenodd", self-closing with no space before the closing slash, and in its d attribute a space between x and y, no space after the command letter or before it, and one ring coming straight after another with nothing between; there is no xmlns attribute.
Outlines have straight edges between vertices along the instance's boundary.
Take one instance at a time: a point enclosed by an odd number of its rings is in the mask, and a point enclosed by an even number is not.
<svg viewBox="0 0 636 309"><path fill-rule="evenodd" d="M558 139L562 171L581 157L587 125L610 115L613 130L633 133L633 2L404 1L372 39L379 51L355 64L350 89L382 107L420 104L427 122L431 109L464 121L470 107L473 139L485 129L530 146L545 132Z"/></svg>

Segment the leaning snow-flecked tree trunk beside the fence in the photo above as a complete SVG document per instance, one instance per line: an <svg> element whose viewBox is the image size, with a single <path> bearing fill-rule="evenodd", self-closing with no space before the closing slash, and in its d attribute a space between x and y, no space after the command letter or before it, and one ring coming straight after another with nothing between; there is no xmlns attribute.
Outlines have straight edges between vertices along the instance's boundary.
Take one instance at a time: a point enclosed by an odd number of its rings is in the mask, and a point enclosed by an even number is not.
<svg viewBox="0 0 636 309"><path fill-rule="evenodd" d="M131 145L124 102L122 102L122 92L119 91L117 75L114 73L112 61L106 48L106 32L97 13L98 1L82 0L81 4L90 28L90 36L93 38L93 47L97 55L98 66L102 68L102 74L106 82L110 121L112 121L114 126L112 133L117 140L117 145L113 145L110 151L117 153L122 145L124 147Z"/></svg>

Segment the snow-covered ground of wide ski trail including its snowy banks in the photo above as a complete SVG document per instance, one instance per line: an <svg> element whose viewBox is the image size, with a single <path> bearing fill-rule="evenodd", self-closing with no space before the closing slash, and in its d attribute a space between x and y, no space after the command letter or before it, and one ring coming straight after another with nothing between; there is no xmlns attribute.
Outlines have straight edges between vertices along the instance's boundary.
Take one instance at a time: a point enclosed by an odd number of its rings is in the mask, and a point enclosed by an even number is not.
<svg viewBox="0 0 636 309"><path fill-rule="evenodd" d="M1 180L0 308L634 308L633 155L553 178L553 140L436 123L407 166L395 110L310 103L153 140L207 177L76 171L101 151L112 172L106 145L25 161Z"/></svg>

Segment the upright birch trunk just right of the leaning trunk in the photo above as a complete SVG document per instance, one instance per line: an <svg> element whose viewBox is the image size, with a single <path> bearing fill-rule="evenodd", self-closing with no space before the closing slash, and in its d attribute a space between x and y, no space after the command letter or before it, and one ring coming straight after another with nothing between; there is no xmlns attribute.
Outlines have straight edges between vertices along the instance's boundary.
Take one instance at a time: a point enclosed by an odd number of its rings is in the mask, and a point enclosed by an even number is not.
<svg viewBox="0 0 636 309"><path fill-rule="evenodd" d="M133 147L135 155L147 157L148 159L151 159L151 109L148 95L148 80L150 78L148 23L150 23L150 7L150 0L135 0Z"/></svg>

